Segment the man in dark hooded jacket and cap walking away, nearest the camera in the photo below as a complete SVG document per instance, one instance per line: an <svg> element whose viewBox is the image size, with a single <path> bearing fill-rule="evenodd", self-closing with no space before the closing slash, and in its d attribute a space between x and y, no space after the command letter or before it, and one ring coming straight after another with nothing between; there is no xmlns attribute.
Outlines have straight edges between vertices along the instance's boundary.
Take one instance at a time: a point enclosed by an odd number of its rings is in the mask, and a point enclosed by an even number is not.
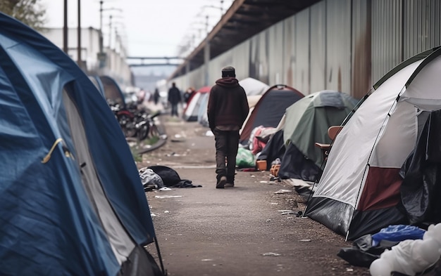
<svg viewBox="0 0 441 276"><path fill-rule="evenodd" d="M222 69L211 88L207 115L216 142L216 188L235 185L239 131L249 112L247 94L236 79L235 68ZM226 165L225 165L226 162Z"/></svg>

